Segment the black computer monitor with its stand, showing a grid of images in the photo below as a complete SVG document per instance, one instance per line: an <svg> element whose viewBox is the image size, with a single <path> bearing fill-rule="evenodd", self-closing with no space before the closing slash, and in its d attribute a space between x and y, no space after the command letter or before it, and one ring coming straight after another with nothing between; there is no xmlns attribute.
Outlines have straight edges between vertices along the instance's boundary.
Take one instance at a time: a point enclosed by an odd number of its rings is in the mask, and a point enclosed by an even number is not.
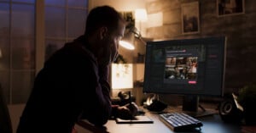
<svg viewBox="0 0 256 133"><path fill-rule="evenodd" d="M207 114L199 97L223 96L225 53L225 36L147 42L143 92L182 95L183 111Z"/></svg>

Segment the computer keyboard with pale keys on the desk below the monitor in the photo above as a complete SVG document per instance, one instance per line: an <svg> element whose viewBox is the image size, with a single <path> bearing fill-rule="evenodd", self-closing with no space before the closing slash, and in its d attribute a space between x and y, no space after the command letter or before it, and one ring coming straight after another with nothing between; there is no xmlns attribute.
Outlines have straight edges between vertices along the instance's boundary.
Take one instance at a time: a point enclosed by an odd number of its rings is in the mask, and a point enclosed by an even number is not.
<svg viewBox="0 0 256 133"><path fill-rule="evenodd" d="M169 126L173 131L201 130L200 120L184 113L159 114L160 120Z"/></svg>

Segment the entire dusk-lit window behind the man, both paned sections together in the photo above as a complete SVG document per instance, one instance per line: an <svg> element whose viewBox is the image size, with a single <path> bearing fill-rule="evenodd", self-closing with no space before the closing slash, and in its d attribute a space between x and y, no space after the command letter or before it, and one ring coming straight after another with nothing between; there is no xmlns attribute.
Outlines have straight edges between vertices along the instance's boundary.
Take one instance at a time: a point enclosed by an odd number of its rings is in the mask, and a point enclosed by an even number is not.
<svg viewBox="0 0 256 133"><path fill-rule="evenodd" d="M38 62L44 62L37 47L44 47L48 58L82 35L87 13L88 0L0 0L0 86L9 104L26 103L30 95L43 65ZM38 23L44 25L37 27ZM46 44L38 43L37 34L45 36Z"/></svg>

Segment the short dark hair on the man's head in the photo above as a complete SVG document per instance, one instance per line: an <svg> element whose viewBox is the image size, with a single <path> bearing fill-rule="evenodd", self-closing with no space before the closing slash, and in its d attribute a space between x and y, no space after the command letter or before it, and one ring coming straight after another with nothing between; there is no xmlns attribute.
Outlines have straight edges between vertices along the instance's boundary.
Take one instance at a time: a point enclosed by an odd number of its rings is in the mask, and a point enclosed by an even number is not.
<svg viewBox="0 0 256 133"><path fill-rule="evenodd" d="M110 6L100 6L90 10L87 16L84 35L93 34L101 26L107 26L112 32L118 28L119 20L125 22L123 17Z"/></svg>

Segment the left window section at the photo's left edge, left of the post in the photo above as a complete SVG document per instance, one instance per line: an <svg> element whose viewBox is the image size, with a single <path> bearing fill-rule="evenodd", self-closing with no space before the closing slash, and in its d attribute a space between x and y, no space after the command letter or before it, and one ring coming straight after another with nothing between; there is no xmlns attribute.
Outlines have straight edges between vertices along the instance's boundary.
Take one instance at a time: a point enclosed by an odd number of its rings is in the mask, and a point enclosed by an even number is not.
<svg viewBox="0 0 256 133"><path fill-rule="evenodd" d="M8 103L24 103L35 74L35 2L0 2L0 84Z"/></svg>

